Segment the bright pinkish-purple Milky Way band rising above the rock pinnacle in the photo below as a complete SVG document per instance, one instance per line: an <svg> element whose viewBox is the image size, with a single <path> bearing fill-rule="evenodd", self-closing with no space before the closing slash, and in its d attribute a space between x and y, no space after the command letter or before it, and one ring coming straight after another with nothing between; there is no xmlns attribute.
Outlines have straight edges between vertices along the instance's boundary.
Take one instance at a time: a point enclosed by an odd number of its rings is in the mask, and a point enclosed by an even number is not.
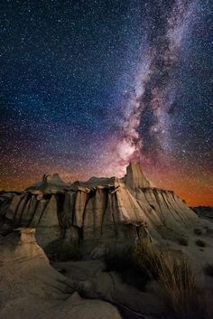
<svg viewBox="0 0 213 319"><path fill-rule="evenodd" d="M161 161L162 151L172 147L169 115L178 103L175 92L179 89L173 79L175 62L179 61L181 46L184 47L192 15L199 4L184 0L173 2L169 8L165 1L163 4L157 1L147 9L147 15L152 13L156 21L147 32L144 65L125 109L124 139L117 146L124 164L141 158Z"/></svg>

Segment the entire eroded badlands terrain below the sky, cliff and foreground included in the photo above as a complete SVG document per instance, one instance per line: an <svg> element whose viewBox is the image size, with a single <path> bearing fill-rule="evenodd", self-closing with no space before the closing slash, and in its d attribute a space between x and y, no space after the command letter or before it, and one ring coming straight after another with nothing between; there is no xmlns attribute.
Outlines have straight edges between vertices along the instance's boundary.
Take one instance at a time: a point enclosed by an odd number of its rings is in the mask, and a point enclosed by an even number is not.
<svg viewBox="0 0 213 319"><path fill-rule="evenodd" d="M0 319L213 318L213 223L195 211L140 164L1 192Z"/></svg>

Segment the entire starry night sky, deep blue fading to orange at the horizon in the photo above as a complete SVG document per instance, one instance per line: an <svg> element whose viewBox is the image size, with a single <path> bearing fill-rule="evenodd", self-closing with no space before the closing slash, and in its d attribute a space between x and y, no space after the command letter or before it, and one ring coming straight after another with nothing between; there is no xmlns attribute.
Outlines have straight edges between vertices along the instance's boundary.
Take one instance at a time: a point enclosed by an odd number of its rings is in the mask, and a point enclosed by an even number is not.
<svg viewBox="0 0 213 319"><path fill-rule="evenodd" d="M213 205L208 0L3 0L0 189L118 177Z"/></svg>

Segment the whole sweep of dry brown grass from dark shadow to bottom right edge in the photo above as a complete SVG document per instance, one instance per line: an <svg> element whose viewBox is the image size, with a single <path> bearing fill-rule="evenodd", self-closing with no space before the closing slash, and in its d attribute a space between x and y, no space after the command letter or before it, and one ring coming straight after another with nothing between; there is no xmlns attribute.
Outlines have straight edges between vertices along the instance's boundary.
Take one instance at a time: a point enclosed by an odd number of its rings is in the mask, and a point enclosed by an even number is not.
<svg viewBox="0 0 213 319"><path fill-rule="evenodd" d="M205 297L200 294L195 276L185 258L177 258L170 251L161 252L147 240L135 245L134 258L147 267L162 286L162 294L172 318L205 319Z"/></svg>

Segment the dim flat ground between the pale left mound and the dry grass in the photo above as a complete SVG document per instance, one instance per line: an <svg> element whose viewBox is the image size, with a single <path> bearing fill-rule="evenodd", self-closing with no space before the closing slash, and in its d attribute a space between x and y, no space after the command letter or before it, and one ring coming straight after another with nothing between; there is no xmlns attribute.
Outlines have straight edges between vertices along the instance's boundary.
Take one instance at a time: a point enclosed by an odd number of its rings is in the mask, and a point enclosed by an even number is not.
<svg viewBox="0 0 213 319"><path fill-rule="evenodd" d="M57 262L53 266L63 269L65 276L84 296L106 300L130 317L153 315L155 318L165 312L158 286L151 283L148 291L138 290L125 283L116 272L106 272L106 265L101 260Z"/></svg>

